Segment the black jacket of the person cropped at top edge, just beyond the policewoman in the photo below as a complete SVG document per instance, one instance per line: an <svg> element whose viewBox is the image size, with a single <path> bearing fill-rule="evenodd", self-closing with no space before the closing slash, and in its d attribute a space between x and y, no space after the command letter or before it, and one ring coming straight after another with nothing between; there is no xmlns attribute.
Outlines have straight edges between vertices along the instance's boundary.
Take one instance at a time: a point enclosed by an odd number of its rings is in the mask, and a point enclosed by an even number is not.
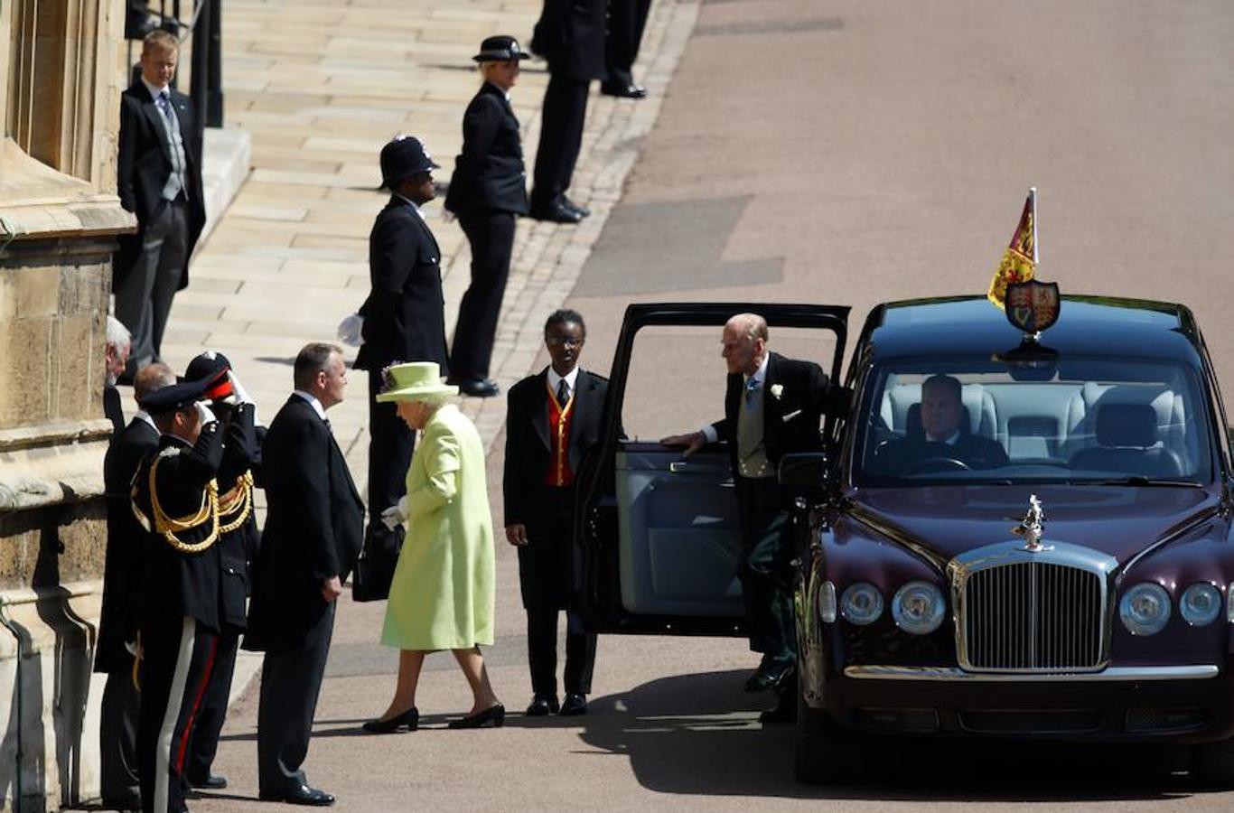
<svg viewBox="0 0 1234 813"><path fill-rule="evenodd" d="M554 75L578 81L606 79L607 15L607 0L544 0L532 51L548 59Z"/></svg>

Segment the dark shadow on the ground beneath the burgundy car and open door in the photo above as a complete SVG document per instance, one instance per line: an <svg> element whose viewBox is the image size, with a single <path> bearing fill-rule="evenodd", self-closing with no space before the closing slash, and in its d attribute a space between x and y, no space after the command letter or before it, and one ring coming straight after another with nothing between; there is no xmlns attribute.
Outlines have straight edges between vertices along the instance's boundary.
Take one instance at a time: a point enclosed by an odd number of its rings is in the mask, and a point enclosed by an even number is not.
<svg viewBox="0 0 1234 813"><path fill-rule="evenodd" d="M1207 788L1171 775L1160 749L1058 743L877 740L870 783L816 787L793 778L793 725L758 722L770 698L742 691L745 671L665 677L595 698L585 743L629 757L660 793L871 801L1066 802L1170 799ZM522 719L508 720L522 724ZM531 722L527 723L532 724ZM543 724L543 723L536 723ZM1130 778L1137 777L1137 778Z"/></svg>

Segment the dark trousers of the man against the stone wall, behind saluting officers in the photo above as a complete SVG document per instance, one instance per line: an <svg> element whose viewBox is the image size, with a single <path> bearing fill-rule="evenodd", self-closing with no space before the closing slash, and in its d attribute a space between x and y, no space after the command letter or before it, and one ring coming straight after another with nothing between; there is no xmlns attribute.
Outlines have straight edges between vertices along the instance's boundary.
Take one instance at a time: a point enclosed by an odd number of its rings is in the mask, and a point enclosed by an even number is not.
<svg viewBox="0 0 1234 813"><path fill-rule="evenodd" d="M141 797L137 723L142 693L133 686L133 659L107 674L99 718L99 790L104 804L122 807Z"/></svg>

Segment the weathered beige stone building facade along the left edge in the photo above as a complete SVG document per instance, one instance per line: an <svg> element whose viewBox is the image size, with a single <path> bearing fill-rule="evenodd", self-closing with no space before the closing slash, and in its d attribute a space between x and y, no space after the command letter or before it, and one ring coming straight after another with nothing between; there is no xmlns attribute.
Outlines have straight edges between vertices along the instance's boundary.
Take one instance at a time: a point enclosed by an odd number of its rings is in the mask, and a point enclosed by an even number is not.
<svg viewBox="0 0 1234 813"><path fill-rule="evenodd" d="M0 797L97 797L122 0L0 0Z"/></svg>

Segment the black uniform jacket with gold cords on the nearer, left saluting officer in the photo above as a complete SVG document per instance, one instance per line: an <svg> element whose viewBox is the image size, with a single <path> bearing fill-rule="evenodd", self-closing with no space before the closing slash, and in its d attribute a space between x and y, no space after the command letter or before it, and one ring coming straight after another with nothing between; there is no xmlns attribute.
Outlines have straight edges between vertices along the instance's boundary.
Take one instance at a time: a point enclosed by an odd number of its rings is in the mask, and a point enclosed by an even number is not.
<svg viewBox="0 0 1234 813"><path fill-rule="evenodd" d="M164 455L164 452L174 454ZM159 450L142 460L133 480L133 503L151 521L146 534L146 569L142 576L141 629L142 640L179 640L181 622L191 616L199 624L218 632L218 543L199 553L178 550L154 530L149 471L158 460L154 487L163 512L172 518L184 518L202 507L206 484L218 474L223 455L223 432L217 421L201 428L194 445L170 434L159 438ZM185 543L199 543L209 535L213 523L175 532Z"/></svg>

